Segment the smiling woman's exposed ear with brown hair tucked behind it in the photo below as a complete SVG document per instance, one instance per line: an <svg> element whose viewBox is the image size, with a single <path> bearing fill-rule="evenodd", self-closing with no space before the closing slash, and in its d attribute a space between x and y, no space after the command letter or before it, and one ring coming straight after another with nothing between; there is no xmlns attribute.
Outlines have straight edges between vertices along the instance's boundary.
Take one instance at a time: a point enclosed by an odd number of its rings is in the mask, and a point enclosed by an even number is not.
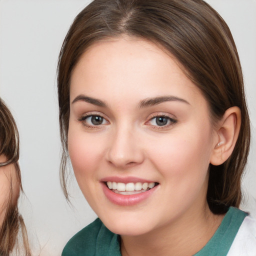
<svg viewBox="0 0 256 256"><path fill-rule="evenodd" d="M217 128L218 141L210 157L213 165L222 164L232 153L241 125L241 111L237 106L228 108Z"/></svg>

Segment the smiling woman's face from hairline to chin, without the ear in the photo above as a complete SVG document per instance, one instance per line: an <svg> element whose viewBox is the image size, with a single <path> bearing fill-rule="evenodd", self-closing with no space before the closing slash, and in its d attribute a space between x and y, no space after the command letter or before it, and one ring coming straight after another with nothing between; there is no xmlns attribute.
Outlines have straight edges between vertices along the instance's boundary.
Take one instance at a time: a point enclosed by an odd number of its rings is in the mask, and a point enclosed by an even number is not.
<svg viewBox="0 0 256 256"><path fill-rule="evenodd" d="M139 235L201 214L217 140L199 89L151 42L98 42L76 64L68 151L111 231Z"/></svg>

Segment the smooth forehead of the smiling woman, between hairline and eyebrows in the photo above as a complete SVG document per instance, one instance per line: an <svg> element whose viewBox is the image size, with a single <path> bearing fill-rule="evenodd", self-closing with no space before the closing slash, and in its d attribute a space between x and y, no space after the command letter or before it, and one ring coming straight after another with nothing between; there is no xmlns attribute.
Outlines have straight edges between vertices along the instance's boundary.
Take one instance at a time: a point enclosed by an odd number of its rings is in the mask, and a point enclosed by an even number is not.
<svg viewBox="0 0 256 256"><path fill-rule="evenodd" d="M80 93L101 99L173 94L203 100L174 57L152 42L133 37L96 42L82 54L71 75L70 99Z"/></svg>

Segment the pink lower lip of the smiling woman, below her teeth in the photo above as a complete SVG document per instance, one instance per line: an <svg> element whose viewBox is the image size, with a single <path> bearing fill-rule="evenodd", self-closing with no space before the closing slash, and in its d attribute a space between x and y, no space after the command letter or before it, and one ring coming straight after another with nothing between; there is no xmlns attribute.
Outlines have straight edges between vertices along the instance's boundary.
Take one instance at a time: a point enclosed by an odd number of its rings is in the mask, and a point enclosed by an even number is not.
<svg viewBox="0 0 256 256"><path fill-rule="evenodd" d="M138 194L117 194L110 190L104 182L101 183L103 192L107 199L111 201L114 204L122 205L122 206L128 206L128 205L134 205L137 203L140 203L141 201L148 198L156 189L157 186L154 186L153 188L141 192Z"/></svg>

